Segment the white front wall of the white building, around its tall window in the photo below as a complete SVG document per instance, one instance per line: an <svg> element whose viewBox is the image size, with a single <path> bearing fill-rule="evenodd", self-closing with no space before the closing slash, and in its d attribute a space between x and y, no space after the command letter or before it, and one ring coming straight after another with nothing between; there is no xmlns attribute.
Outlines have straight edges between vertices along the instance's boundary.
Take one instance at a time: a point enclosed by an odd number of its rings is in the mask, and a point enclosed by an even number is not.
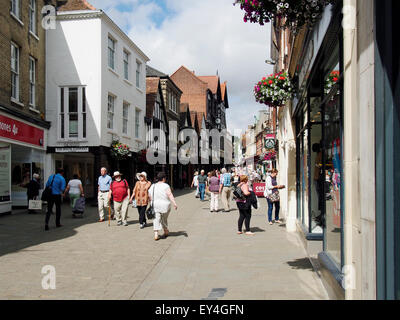
<svg viewBox="0 0 400 320"><path fill-rule="evenodd" d="M49 146L70 145L59 140L60 86L85 85L87 139L81 146L100 145L101 37L100 19L58 20L46 36L46 120L51 121Z"/></svg>

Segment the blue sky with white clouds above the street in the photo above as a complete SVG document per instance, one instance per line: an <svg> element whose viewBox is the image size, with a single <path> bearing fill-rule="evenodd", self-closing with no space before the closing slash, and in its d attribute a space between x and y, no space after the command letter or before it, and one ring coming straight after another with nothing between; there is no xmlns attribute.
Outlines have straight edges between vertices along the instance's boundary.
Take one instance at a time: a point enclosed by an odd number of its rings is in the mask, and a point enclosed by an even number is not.
<svg viewBox="0 0 400 320"><path fill-rule="evenodd" d="M254 85L272 73L270 25L243 22L234 0L88 0L108 16L166 74L181 65L196 75L227 81L228 129L245 130L266 108L254 99Z"/></svg>

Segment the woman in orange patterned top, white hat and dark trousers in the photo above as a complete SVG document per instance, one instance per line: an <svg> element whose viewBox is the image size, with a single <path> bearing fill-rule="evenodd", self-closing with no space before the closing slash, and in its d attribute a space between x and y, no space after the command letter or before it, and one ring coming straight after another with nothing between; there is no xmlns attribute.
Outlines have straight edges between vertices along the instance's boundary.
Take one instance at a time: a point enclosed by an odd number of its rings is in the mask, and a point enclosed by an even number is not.
<svg viewBox="0 0 400 320"><path fill-rule="evenodd" d="M136 175L136 179L139 180L136 182L135 187L132 191L132 196L129 200L130 203L133 200L136 201L136 208L138 209L139 213L139 224L140 229L146 227L146 209L147 205L149 204L149 196L148 192L151 186L151 182L147 181L147 173L142 172Z"/></svg>

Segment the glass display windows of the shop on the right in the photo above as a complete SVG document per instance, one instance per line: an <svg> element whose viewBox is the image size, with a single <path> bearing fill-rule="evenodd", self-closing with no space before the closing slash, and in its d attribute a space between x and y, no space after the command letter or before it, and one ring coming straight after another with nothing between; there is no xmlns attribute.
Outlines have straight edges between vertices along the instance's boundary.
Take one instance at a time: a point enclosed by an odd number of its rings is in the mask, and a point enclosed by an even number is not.
<svg viewBox="0 0 400 320"><path fill-rule="evenodd" d="M325 50L325 52L324 52ZM298 103L297 218L308 237L343 264L342 90L340 40L323 48Z"/></svg>

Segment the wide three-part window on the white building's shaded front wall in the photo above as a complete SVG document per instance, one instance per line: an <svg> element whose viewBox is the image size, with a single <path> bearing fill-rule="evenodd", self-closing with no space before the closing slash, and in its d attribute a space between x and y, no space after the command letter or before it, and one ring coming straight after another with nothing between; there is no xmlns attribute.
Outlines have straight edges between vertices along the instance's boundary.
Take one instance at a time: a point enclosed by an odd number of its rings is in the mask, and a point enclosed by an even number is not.
<svg viewBox="0 0 400 320"><path fill-rule="evenodd" d="M82 139L86 138L86 88L63 87L60 88L60 138Z"/></svg>

